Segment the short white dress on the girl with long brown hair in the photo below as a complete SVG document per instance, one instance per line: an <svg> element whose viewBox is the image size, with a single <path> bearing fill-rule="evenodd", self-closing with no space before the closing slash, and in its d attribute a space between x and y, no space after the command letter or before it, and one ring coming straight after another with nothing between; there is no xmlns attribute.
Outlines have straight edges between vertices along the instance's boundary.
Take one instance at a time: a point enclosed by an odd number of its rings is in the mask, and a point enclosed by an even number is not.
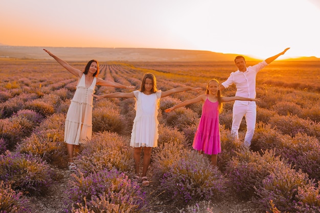
<svg viewBox="0 0 320 213"><path fill-rule="evenodd" d="M133 91L136 98L135 118L131 132L131 147L157 147L158 145L158 109L161 90L145 94L139 90Z"/></svg>

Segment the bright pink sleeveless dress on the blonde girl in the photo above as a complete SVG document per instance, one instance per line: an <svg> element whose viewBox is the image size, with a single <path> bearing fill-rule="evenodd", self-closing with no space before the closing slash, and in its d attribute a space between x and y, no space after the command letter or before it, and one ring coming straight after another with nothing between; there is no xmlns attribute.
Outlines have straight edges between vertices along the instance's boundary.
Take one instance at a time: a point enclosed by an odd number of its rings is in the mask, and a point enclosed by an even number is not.
<svg viewBox="0 0 320 213"><path fill-rule="evenodd" d="M219 130L219 102L205 100L199 126L194 135L192 147L205 154L218 154L221 152Z"/></svg>

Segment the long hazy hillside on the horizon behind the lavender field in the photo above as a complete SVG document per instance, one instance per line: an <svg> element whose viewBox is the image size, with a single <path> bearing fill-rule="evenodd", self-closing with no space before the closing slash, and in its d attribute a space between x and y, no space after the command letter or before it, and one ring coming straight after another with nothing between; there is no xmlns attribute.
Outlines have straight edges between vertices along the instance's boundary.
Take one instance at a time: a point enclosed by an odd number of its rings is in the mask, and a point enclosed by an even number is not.
<svg viewBox="0 0 320 213"><path fill-rule="evenodd" d="M142 48L53 48L39 46L0 45L0 58L52 59L42 49L67 61L233 61L239 54L223 54L211 51L142 49ZM257 59L246 56L247 61ZM292 59L288 59L292 60ZM293 59L296 60L296 59ZM320 60L305 57L303 60Z"/></svg>

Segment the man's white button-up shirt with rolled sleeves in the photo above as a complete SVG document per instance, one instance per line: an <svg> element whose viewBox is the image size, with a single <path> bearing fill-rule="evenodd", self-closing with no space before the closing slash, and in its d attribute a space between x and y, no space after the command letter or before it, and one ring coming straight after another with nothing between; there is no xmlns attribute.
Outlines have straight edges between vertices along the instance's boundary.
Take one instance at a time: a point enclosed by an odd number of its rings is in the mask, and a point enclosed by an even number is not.
<svg viewBox="0 0 320 213"><path fill-rule="evenodd" d="M266 65L268 65L267 62L262 61L254 66L248 66L245 72L238 69L236 72L232 72L222 85L227 88L235 84L237 88L236 96L254 99L256 98L257 73ZM246 104L247 101L241 101L241 103Z"/></svg>

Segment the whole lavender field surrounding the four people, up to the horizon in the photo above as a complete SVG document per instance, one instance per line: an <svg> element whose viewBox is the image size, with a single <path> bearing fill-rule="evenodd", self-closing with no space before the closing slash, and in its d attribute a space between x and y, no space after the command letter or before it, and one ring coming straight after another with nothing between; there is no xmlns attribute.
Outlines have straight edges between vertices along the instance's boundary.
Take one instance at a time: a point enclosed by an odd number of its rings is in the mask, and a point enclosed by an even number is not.
<svg viewBox="0 0 320 213"><path fill-rule="evenodd" d="M80 70L86 64L69 63ZM129 147L134 99L94 100L93 138L77 150L79 170L72 173L63 131L77 79L52 60L0 59L0 212L320 212L319 67L319 61L275 61L261 70L250 149L241 143L244 121L240 143L232 139L233 103L226 103L217 168L191 147L201 104L164 112L198 93L163 98L151 186L144 188L134 179ZM222 82L235 69L232 61L100 61L99 77L139 89L150 72L163 91L193 86L204 92L210 79ZM96 94L115 91L132 90L96 87ZM58 185L64 197L57 201L51 195ZM242 211L228 200L242 203Z"/></svg>

